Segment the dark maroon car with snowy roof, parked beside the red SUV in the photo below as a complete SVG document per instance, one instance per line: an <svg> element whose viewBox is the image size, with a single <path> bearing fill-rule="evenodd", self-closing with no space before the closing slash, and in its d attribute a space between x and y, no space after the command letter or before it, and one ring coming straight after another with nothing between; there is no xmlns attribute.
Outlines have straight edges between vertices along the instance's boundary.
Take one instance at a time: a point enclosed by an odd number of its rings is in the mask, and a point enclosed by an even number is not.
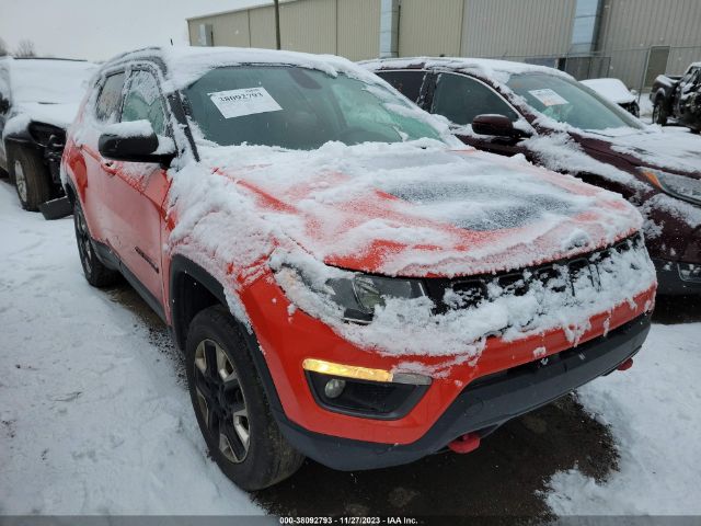
<svg viewBox="0 0 701 526"><path fill-rule="evenodd" d="M645 218L662 295L701 294L701 138L646 126L556 69L471 58L368 60L463 142L618 192Z"/></svg>

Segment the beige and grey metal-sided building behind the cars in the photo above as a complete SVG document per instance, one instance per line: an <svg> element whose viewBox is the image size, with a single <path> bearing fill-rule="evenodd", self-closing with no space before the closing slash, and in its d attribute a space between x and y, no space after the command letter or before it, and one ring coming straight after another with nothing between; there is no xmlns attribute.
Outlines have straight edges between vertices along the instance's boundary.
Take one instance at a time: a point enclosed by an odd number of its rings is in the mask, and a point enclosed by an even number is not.
<svg viewBox="0 0 701 526"><path fill-rule="evenodd" d="M274 20L271 1L194 18L189 41L273 48ZM285 49L350 60L505 58L643 88L701 60L701 0L287 0L280 33Z"/></svg>

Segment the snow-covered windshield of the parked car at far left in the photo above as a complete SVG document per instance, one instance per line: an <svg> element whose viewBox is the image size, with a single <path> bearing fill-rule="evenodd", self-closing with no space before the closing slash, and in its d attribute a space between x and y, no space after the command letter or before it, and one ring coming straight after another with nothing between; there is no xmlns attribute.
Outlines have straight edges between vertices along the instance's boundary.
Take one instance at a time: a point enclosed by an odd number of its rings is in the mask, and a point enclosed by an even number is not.
<svg viewBox="0 0 701 526"><path fill-rule="evenodd" d="M82 60L14 59L10 72L13 102L77 104L95 68Z"/></svg>

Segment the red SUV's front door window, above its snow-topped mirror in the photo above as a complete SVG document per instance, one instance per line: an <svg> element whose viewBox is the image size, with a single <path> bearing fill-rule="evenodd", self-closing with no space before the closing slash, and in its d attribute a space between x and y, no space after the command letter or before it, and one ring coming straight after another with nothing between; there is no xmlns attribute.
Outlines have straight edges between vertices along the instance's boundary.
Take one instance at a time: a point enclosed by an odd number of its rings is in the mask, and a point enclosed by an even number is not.
<svg viewBox="0 0 701 526"><path fill-rule="evenodd" d="M138 70L131 73L129 80L122 107L122 121L146 119L151 123L157 135L166 135L165 112L156 77L149 71Z"/></svg>

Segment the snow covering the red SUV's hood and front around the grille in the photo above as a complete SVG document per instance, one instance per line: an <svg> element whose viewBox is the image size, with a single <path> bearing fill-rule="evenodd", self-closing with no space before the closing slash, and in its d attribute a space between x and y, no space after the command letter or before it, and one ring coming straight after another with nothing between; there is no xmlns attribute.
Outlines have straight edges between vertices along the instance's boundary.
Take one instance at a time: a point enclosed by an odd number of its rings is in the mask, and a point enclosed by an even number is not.
<svg viewBox="0 0 701 526"><path fill-rule="evenodd" d="M315 151L198 149L200 162L171 169L169 214L176 220L169 247L221 279L231 311L249 327L242 287L273 270L294 306L363 348L474 361L485 334L499 331L518 339L562 328L576 343L591 316L655 283L641 245L614 254L606 288L585 284L568 304L542 288L521 297L497 293L482 307L445 315L427 297L392 299L369 324L346 323L324 291L329 278L520 268L611 244L639 230L641 216L574 178L427 139L329 142Z"/></svg>

